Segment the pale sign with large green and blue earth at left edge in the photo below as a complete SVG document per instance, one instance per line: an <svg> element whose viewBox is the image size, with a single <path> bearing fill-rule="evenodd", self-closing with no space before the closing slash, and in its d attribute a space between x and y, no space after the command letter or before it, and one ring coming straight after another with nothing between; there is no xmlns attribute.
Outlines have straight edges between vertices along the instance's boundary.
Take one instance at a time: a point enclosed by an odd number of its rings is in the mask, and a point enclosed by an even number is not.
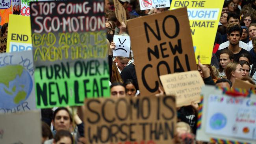
<svg viewBox="0 0 256 144"><path fill-rule="evenodd" d="M35 108L32 51L0 54L0 113Z"/></svg>

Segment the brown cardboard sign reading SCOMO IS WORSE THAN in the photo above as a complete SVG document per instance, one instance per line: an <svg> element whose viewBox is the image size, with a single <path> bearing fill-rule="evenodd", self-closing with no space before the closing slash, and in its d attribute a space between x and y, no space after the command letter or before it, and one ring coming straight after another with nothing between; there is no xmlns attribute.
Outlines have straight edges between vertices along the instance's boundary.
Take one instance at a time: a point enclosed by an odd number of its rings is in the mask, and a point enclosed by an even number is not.
<svg viewBox="0 0 256 144"><path fill-rule="evenodd" d="M174 144L176 119L173 96L85 100L88 144Z"/></svg>

